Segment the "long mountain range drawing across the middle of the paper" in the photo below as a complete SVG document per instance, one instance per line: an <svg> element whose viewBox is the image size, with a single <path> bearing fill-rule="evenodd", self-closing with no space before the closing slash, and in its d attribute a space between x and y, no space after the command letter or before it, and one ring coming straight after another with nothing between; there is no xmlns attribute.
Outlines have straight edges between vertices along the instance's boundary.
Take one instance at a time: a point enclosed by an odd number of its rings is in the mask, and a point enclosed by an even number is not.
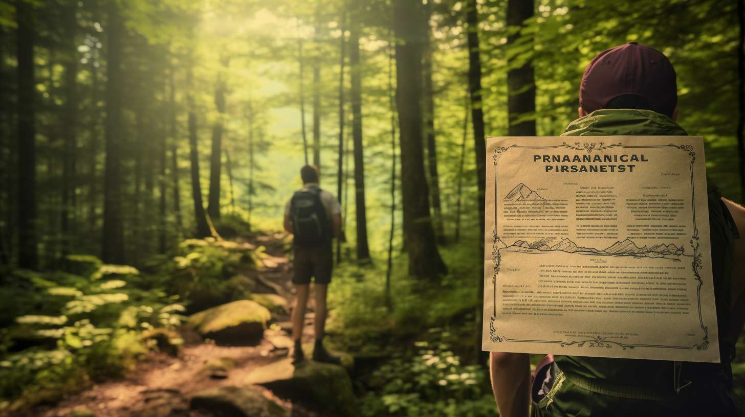
<svg viewBox="0 0 745 417"><path fill-rule="evenodd" d="M517 246L524 249L535 249L541 252L548 252L554 250L560 250L562 252L574 253L580 252L587 255L599 254L599 255L633 255L633 256L647 256L650 258L659 258L667 255L683 255L683 249L675 246L675 244L659 243L654 246L637 246L631 239L624 241L618 241L608 246L606 249L595 249L584 246L577 246L567 238L542 238L533 243L527 241L515 241L510 246L507 246L504 242L498 241L499 248Z"/></svg>

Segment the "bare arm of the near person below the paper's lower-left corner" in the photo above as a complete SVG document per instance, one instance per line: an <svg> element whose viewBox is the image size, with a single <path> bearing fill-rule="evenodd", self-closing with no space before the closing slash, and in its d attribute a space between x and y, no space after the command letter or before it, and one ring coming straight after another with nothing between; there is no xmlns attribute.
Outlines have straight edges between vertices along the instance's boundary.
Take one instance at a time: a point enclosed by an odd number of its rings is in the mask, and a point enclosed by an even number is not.
<svg viewBox="0 0 745 417"><path fill-rule="evenodd" d="M530 410L529 355L492 352L489 370L500 416L527 417Z"/></svg>

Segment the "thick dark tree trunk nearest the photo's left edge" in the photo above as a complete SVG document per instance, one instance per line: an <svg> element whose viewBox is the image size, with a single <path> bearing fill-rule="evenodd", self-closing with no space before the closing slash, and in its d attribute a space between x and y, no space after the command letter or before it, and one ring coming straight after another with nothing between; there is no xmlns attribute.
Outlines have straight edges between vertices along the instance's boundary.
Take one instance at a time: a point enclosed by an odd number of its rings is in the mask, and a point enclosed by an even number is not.
<svg viewBox="0 0 745 417"><path fill-rule="evenodd" d="M37 249L36 81L34 81L34 13L16 1L18 32L18 266L35 269Z"/></svg>

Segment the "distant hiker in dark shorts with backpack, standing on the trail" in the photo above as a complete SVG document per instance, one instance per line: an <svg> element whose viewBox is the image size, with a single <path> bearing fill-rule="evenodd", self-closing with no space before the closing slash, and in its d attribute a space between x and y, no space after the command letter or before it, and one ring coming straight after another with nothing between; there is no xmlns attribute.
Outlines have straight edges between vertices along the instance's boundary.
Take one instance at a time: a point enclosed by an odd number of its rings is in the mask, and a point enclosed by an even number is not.
<svg viewBox="0 0 745 417"><path fill-rule="evenodd" d="M313 360L338 363L339 358L323 347L323 329L326 325L326 292L334 265L332 238L340 237L341 207L334 194L319 188L318 168L314 165L302 167L300 177L302 189L295 191L285 206L285 230L294 235L292 282L297 300L292 312L293 357L295 362L304 359L300 340L311 277L314 277L316 343Z"/></svg>

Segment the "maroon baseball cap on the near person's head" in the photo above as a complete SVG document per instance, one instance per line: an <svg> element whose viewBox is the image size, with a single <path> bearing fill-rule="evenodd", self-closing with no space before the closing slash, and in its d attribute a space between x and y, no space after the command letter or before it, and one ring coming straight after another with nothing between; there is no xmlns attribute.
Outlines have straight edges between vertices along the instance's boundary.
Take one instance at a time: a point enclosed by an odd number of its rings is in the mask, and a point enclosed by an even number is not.
<svg viewBox="0 0 745 417"><path fill-rule="evenodd" d="M678 103L675 69L662 52L629 42L601 52L582 75L580 106L591 113L620 95L646 99L650 110L672 115Z"/></svg>

